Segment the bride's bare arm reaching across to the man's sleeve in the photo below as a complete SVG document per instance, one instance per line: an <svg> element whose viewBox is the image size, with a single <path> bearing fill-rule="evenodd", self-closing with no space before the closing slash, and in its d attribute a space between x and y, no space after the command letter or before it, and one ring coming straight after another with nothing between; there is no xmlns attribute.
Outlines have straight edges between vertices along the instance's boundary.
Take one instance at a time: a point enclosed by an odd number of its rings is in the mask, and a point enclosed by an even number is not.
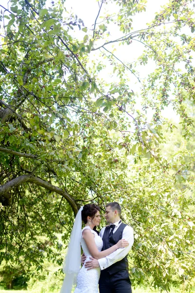
<svg viewBox="0 0 195 293"><path fill-rule="evenodd" d="M104 251L98 251L96 243L95 243L95 239L94 239L94 234L89 229L86 229L82 232L82 237L85 240L85 243L87 245L87 248L91 256L93 256L96 259L106 257L110 253L116 251L118 248L127 247L129 245L129 243L126 240L121 239L117 242L117 244L113 245L112 247Z"/></svg>

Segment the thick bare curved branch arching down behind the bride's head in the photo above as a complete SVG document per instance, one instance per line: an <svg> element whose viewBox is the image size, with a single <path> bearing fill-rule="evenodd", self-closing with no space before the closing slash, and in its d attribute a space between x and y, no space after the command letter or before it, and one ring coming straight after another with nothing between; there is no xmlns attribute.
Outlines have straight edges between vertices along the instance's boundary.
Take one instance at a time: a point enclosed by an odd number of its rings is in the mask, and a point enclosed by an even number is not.
<svg viewBox="0 0 195 293"><path fill-rule="evenodd" d="M10 198L9 191L11 191L13 188L16 188L26 182L30 182L32 184L39 185L43 188L46 188L50 191L56 192L56 193L60 194L61 196L63 196L63 198L65 200L67 200L67 202L70 204L71 208L73 209L74 215L76 216L76 214L78 212L78 207L75 203L75 200L65 190L62 190L61 188L54 186L47 181L44 181L38 177L35 177L32 174L21 175L11 181L8 181L7 183L3 184L2 186L0 186L0 197L3 196L4 198L9 199Z"/></svg>

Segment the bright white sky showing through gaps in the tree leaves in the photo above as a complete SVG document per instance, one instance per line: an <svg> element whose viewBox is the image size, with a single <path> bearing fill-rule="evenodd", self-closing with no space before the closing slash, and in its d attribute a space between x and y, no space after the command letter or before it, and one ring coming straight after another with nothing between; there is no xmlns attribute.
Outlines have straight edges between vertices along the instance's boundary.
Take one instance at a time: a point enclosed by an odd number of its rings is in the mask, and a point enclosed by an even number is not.
<svg viewBox="0 0 195 293"><path fill-rule="evenodd" d="M138 29L143 29L147 27L146 23L151 22L154 17L155 13L160 10L160 7L164 4L166 4L168 0L148 0L147 6L146 6L146 12L142 12L137 14L135 17L132 17L133 19L133 28L134 31ZM7 7L8 0L0 0L0 4L3 5L4 7ZM50 5L51 0L47 1L48 6ZM100 1L99 1L100 3ZM101 19L100 17L106 13L112 12L117 12L116 10L116 5L113 4L114 2L109 2L109 4L103 4L102 9L98 18L97 22L100 22ZM10 3L8 4L10 7ZM78 18L82 19L84 22L84 25L90 29L93 27L93 24L95 22L95 19L98 15L98 1L97 0L66 0L65 2L65 8L68 12L71 10L78 16ZM121 36L121 33L119 30L116 30L116 26L112 26L109 28L110 32L110 39L115 40L117 39L118 36ZM79 31L76 29L75 32L76 36L78 39L83 39L85 33L82 31ZM99 45L102 44L102 41L100 41ZM137 60L137 57L141 55L144 46L140 44L139 42L133 42L131 45L127 46L118 46L115 43L115 55L122 61L122 62L130 62L133 63L135 60ZM112 50L113 45L107 46L107 49ZM95 51L94 53L91 52L91 58L95 58L98 60L99 56L99 51ZM104 78L108 80L108 82L111 80L111 77L109 76L109 66L106 66L106 69L101 71L101 78ZM154 70L154 63L151 61L149 62L146 66L140 66L139 70L139 75L140 79L143 79L147 76L148 73ZM113 78L113 77L112 77ZM137 82L137 79L129 73L129 78L130 78L130 88L133 88L134 91L139 91L140 84ZM139 101L137 101L137 107L139 107ZM166 108L164 111L163 115L166 118L172 117L172 119L175 120L175 122L178 122L178 117L176 114L173 112L173 110L169 107Z"/></svg>

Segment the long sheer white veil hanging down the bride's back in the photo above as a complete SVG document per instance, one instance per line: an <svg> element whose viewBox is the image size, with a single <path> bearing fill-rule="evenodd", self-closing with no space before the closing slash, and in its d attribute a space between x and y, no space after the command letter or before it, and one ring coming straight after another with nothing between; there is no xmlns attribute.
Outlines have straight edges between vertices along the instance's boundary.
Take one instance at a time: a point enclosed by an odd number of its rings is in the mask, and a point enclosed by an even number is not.
<svg viewBox="0 0 195 293"><path fill-rule="evenodd" d="M70 236L68 251L63 262L63 272L66 274L60 293L71 293L73 284L77 281L77 275L80 270L81 263L81 248L80 235L82 228L81 211L83 207L78 210L73 230Z"/></svg>

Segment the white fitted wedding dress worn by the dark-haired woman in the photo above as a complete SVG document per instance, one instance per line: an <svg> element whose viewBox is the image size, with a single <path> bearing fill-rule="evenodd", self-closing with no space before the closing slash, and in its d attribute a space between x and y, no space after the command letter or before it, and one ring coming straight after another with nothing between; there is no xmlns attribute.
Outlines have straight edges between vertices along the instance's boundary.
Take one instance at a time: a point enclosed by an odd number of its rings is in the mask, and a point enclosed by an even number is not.
<svg viewBox="0 0 195 293"><path fill-rule="evenodd" d="M90 229L89 226L86 226L81 230L81 237L80 237L80 243L82 250L84 254L87 256L86 260L90 259L90 252L87 248L87 245L82 238L82 232L85 229ZM98 251L101 251L103 242L100 236L98 236L97 232L94 230L91 230L91 232L95 235L95 243L98 248ZM100 276L100 268L95 268L87 271L85 266L83 265L82 268L80 269L77 277L77 287L74 291L74 293L98 293L98 281L99 281L99 276Z"/></svg>

